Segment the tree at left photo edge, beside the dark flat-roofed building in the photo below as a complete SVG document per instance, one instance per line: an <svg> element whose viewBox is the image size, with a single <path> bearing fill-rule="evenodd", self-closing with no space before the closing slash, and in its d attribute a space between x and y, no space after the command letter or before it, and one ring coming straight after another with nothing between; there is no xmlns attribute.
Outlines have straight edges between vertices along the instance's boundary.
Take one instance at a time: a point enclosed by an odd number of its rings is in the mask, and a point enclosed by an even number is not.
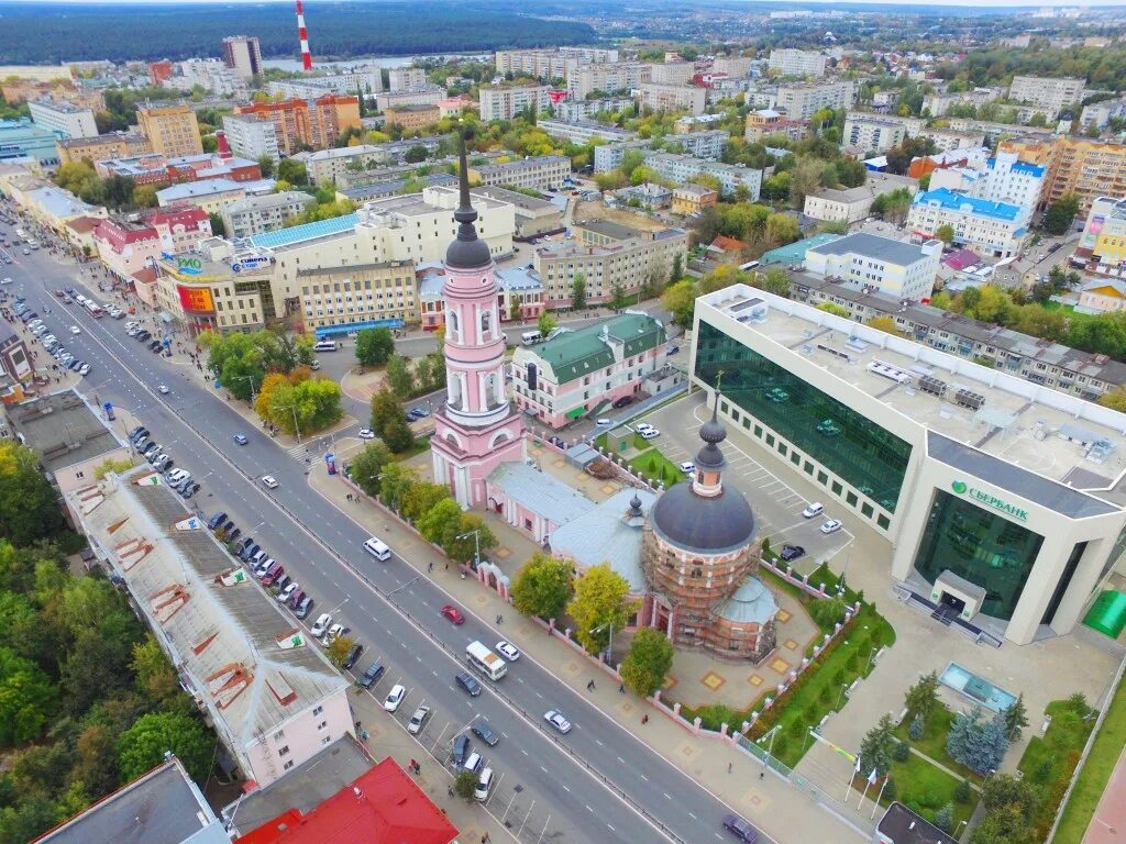
<svg viewBox="0 0 1126 844"><path fill-rule="evenodd" d="M35 451L0 440L0 537L26 546L63 528L59 496L39 472Z"/></svg>

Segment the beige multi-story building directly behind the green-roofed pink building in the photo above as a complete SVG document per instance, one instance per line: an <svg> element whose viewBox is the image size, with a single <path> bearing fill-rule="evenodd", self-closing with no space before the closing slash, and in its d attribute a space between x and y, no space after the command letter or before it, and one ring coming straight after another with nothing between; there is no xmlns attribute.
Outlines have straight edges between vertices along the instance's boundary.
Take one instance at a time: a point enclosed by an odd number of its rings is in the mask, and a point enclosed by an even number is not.
<svg viewBox="0 0 1126 844"><path fill-rule="evenodd" d="M534 253L536 275L543 281L547 307L566 307L575 276L587 281L587 300L608 302L615 288L636 293L651 278L667 278L676 257L688 251L688 232L664 228L642 232L598 219L575 223L575 240L542 246Z"/></svg>

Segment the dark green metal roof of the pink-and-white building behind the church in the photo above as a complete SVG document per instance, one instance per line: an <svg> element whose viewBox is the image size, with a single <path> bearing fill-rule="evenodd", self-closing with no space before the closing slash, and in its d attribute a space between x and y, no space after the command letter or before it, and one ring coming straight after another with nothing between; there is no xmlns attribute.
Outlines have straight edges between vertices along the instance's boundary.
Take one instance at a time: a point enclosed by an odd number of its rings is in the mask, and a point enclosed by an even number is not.
<svg viewBox="0 0 1126 844"><path fill-rule="evenodd" d="M665 342L664 326L646 314L620 314L582 329L565 330L536 347L558 384L597 372L614 362L611 343L624 343L623 357L649 351Z"/></svg>

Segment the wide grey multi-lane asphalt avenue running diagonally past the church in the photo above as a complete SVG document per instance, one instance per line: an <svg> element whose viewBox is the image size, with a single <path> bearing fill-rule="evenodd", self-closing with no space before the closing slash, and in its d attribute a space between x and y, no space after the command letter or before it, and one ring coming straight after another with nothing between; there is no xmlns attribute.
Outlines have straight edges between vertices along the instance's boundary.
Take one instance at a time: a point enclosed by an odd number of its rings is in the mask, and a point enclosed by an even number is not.
<svg viewBox="0 0 1126 844"><path fill-rule="evenodd" d="M37 258L14 268L41 279L26 285L33 304L72 284L66 270ZM653 839L654 834L692 844L726 839L720 821L729 809L722 801L547 668L521 659L495 689L484 682L481 697L468 698L454 683L454 674L464 667L465 645L473 639L495 641L503 638L503 630L473 614L464 626L449 625L438 614L449 596L399 557L379 564L365 555L361 545L368 533L309 488L306 464L288 457L196 379L185 377L182 366L151 354L126 336L120 322L96 321L57 302L52 311L57 322L77 323L86 332L82 356L96 370L83 390L92 397L96 389L101 402L134 412L158 441L170 447L177 465L204 485L194 500L197 505L207 514L226 511L244 536L258 539L315 596L310 622L319 612L339 608L334 620L350 627L367 647L357 667L363 670L368 656L385 655L391 680L408 688L406 717L425 701L449 713L455 725L483 717L504 736L494 748L481 743L475 747L509 783L524 787L524 802L534 799L549 807L546 821L531 820L522 829L513 825L513 833L556 842L636 842ZM172 388L170 396L158 396L159 383ZM250 438L249 446L233 443L238 432ZM267 473L280 484L270 493L256 483ZM590 673L595 676L592 668ZM387 688L383 681L383 693ZM574 724L568 736L542 726L544 711L555 707ZM378 747L374 749L378 753ZM445 761L444 747L435 753ZM627 800L617 796L619 791L628 794Z"/></svg>

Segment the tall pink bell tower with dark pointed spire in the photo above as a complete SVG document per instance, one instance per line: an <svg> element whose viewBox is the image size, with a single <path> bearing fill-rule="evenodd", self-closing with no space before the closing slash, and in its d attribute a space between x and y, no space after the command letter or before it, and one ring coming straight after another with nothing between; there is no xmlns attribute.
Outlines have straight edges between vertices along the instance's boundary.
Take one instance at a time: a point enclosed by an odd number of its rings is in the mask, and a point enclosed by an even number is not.
<svg viewBox="0 0 1126 844"><path fill-rule="evenodd" d="M461 140L457 240L446 251L446 404L430 440L434 479L463 509L485 506L485 478L502 463L525 458L524 427L504 393L504 334L495 267L477 239L470 201L465 137Z"/></svg>

